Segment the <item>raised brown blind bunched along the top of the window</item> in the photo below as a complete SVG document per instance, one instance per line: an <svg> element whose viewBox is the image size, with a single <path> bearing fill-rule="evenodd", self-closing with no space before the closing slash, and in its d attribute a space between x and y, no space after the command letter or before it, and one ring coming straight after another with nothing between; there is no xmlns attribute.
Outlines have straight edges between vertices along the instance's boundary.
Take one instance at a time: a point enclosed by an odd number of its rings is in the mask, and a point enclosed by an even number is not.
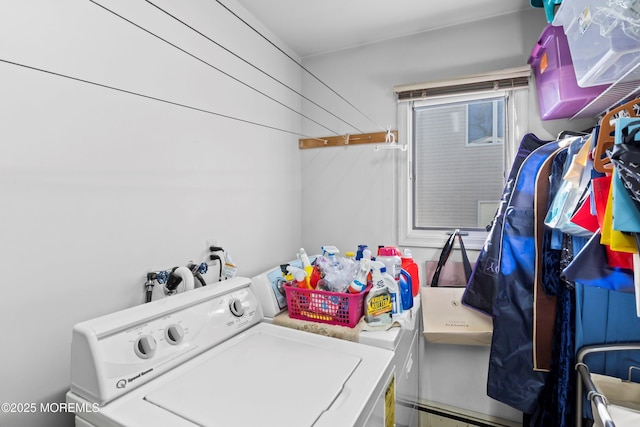
<svg viewBox="0 0 640 427"><path fill-rule="evenodd" d="M399 85L394 86L393 91L398 101L414 101L460 93L525 88L529 86L530 76L531 68L527 65L457 79Z"/></svg>

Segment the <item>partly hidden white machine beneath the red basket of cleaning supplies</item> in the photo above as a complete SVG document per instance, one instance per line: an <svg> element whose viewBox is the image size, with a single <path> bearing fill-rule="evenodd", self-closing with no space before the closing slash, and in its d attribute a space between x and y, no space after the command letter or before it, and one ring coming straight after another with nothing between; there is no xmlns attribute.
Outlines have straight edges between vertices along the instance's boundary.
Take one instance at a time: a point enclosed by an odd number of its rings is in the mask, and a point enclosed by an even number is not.
<svg viewBox="0 0 640 427"><path fill-rule="evenodd" d="M288 264L301 267L299 259ZM287 300L282 286L284 278L280 267L265 271L251 279L256 294L263 307L266 321L281 315L287 310ZM396 411L397 427L417 427L418 410L418 329L420 312L420 296L413 299L413 308L404 313L403 327L393 327L386 331L361 331L358 342L393 351L396 376Z"/></svg>

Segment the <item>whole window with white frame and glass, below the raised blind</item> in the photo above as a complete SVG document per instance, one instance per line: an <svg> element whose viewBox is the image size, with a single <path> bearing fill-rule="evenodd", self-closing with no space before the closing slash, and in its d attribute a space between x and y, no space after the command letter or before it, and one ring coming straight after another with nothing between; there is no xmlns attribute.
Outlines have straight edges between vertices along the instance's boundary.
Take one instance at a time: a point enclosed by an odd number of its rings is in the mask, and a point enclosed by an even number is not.
<svg viewBox="0 0 640 427"><path fill-rule="evenodd" d="M409 145L398 159L399 244L441 247L458 228L479 249L524 135L528 91L462 90L398 105Z"/></svg>

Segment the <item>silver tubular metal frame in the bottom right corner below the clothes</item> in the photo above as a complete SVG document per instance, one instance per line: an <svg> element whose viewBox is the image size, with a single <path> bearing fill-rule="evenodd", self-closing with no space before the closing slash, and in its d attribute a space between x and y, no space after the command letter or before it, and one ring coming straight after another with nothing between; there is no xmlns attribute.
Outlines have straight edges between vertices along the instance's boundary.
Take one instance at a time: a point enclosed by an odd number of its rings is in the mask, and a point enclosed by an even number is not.
<svg viewBox="0 0 640 427"><path fill-rule="evenodd" d="M585 346L578 351L576 357L576 426L582 427L582 393L583 385L586 387L587 397L592 401L597 410L604 427L615 427L615 422L611 418L611 414L607 409L607 398L596 389L595 384L591 380L589 367L584 363L584 358L591 353L607 352L607 351L624 351L624 350L640 350L640 343L625 344L603 344Z"/></svg>

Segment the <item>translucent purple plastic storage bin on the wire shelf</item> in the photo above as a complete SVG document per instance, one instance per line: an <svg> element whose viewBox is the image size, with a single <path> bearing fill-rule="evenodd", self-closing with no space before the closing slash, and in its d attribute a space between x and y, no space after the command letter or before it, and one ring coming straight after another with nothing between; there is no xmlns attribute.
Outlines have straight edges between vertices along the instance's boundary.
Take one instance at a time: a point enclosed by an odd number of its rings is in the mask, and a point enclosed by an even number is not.
<svg viewBox="0 0 640 427"><path fill-rule="evenodd" d="M536 78L542 120L570 118L609 87L578 86L569 43L562 27L547 25L528 63Z"/></svg>

